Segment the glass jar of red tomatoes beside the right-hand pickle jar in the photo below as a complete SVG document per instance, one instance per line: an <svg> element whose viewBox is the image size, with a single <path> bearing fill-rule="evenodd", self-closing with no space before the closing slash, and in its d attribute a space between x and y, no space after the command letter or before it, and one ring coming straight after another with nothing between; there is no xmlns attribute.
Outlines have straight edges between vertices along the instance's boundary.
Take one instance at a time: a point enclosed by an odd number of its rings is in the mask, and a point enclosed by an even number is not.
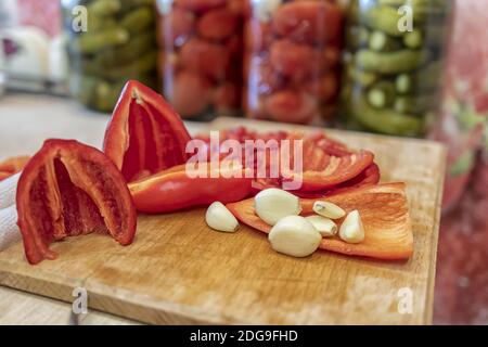
<svg viewBox="0 0 488 347"><path fill-rule="evenodd" d="M325 0L249 0L244 27L246 116L330 119L339 82L342 9Z"/></svg>

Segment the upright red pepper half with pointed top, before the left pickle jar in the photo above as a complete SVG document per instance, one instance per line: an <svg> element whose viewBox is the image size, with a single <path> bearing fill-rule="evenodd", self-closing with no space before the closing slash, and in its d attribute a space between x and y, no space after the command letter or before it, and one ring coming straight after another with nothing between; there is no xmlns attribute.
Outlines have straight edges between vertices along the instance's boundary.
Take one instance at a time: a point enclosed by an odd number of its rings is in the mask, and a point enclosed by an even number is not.
<svg viewBox="0 0 488 347"><path fill-rule="evenodd" d="M104 152L130 182L185 163L190 140L180 116L164 98L131 80L106 129Z"/></svg>

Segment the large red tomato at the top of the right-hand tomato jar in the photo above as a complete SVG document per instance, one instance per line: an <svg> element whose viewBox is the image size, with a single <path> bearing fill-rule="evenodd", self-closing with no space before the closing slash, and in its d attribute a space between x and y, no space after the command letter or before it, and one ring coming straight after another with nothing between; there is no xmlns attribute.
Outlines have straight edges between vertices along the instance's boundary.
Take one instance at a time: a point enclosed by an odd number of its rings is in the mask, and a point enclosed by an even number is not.
<svg viewBox="0 0 488 347"><path fill-rule="evenodd" d="M272 27L282 37L301 43L335 40L341 35L342 10L326 1L294 1L274 13Z"/></svg>

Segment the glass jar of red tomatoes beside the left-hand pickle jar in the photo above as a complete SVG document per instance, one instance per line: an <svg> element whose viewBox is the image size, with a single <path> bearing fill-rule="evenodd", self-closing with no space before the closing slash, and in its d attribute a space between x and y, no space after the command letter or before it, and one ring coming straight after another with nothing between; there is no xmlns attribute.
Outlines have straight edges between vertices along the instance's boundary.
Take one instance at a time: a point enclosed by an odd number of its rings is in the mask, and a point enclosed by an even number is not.
<svg viewBox="0 0 488 347"><path fill-rule="evenodd" d="M183 118L241 108L244 0L158 0L159 74Z"/></svg>

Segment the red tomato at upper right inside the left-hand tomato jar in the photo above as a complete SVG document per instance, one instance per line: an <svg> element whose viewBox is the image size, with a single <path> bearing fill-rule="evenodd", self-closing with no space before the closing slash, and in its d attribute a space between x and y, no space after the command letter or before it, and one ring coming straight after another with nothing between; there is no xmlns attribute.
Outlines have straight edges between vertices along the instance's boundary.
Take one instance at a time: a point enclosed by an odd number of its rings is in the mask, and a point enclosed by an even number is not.
<svg viewBox="0 0 488 347"><path fill-rule="evenodd" d="M209 40L223 40L237 28L239 18L228 9L206 12L198 21L198 34Z"/></svg>

